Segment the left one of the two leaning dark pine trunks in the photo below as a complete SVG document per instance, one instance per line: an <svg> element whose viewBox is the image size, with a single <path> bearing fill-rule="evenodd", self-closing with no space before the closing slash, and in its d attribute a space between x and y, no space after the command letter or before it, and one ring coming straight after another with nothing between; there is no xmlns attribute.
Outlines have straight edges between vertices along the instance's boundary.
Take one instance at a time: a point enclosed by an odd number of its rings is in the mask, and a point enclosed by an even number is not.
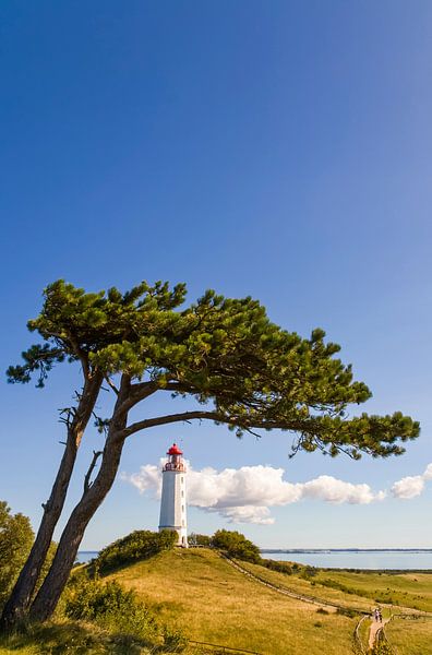
<svg viewBox="0 0 432 655"><path fill-rule="evenodd" d="M44 567L52 534L62 512L76 460L76 452L83 432L92 416L103 378L94 376L86 380L76 412L68 428L65 450L48 502L44 505L44 515L36 539L20 576L7 602L1 619L0 630L9 632L24 618L32 602L32 596Z"/></svg>

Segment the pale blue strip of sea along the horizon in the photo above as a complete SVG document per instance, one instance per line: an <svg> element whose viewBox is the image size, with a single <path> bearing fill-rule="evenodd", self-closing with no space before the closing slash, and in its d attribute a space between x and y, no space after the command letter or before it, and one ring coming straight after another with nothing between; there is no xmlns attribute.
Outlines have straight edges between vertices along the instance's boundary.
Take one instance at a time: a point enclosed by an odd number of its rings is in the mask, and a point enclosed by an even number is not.
<svg viewBox="0 0 432 655"><path fill-rule="evenodd" d="M393 571L432 570L432 548L404 549L262 549L264 559L298 562L323 569L367 569ZM80 550L77 561L88 562L97 550Z"/></svg>

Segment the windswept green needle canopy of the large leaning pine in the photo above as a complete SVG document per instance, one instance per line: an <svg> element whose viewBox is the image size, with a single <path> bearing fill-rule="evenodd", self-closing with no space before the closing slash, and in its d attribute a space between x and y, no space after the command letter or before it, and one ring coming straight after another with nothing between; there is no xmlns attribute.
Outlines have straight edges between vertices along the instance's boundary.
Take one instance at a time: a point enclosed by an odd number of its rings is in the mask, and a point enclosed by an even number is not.
<svg viewBox="0 0 432 655"><path fill-rule="evenodd" d="M348 415L371 392L353 380L350 365L325 342L323 330L309 338L272 323L250 297L224 298L213 290L184 307L185 286L143 282L125 294L116 288L87 294L63 281L49 285L39 317L28 322L41 343L10 367L10 382L36 376L43 386L51 368L80 361L84 373L103 374L113 390L129 376L131 406L157 391L192 396L190 412L129 425L123 437L183 419L212 419L238 436L281 429L298 450L387 456L419 434L419 424L396 412Z"/></svg>

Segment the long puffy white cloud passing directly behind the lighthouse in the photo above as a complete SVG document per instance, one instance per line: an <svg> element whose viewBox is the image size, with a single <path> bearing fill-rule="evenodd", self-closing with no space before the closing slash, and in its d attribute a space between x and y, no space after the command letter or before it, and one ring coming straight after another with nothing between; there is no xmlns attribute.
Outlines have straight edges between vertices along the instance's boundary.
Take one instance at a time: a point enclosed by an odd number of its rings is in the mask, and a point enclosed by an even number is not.
<svg viewBox="0 0 432 655"><path fill-rule="evenodd" d="M161 461L163 463L163 461ZM284 469L272 466L242 466L194 471L188 466L188 504L207 512L218 512L233 523L271 524L272 507L299 502L303 499L322 500L334 504L369 504L385 497L374 493L369 485L353 485L328 475L307 483L288 483ZM122 475L141 493L153 491L160 498L161 464L141 466L139 473Z"/></svg>

